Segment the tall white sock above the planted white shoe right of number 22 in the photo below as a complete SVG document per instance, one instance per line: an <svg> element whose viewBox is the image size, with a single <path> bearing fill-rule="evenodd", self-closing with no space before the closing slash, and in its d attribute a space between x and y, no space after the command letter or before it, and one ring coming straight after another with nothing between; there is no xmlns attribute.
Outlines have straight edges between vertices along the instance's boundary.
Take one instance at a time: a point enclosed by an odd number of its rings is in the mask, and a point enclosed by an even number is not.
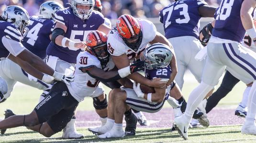
<svg viewBox="0 0 256 143"><path fill-rule="evenodd" d="M213 86L201 82L189 95L189 100L187 102L187 108L184 113L184 117L187 120L187 123L190 123L190 120L195 112L196 108L205 98L208 92L213 89Z"/></svg>

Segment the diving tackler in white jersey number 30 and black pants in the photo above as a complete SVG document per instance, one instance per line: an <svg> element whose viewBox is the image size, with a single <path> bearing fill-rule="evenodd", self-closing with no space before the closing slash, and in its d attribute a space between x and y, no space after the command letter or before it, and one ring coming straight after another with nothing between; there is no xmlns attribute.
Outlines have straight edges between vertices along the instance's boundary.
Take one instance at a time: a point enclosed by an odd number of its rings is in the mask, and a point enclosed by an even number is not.
<svg viewBox="0 0 256 143"><path fill-rule="evenodd" d="M27 115L14 115L0 122L0 129L26 126L27 128L50 137L65 128L78 106L85 97L93 98L95 109L107 108L104 90L100 81L116 81L140 71L143 61L138 61L118 71L109 71L114 67L107 51L107 36L101 31L89 33L88 49L78 54L74 82L53 85L45 99Z"/></svg>

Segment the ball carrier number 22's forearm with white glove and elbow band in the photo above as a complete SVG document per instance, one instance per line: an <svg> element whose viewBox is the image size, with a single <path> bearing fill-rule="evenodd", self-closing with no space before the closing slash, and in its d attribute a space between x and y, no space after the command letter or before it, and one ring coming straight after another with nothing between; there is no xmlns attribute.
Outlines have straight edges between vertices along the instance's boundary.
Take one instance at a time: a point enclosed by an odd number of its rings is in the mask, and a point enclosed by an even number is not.
<svg viewBox="0 0 256 143"><path fill-rule="evenodd" d="M134 92L136 92L138 97L144 98L148 102L163 102L166 95L166 87L167 86L162 88L154 88L155 93L143 93L140 89L140 83L136 85L134 82Z"/></svg>

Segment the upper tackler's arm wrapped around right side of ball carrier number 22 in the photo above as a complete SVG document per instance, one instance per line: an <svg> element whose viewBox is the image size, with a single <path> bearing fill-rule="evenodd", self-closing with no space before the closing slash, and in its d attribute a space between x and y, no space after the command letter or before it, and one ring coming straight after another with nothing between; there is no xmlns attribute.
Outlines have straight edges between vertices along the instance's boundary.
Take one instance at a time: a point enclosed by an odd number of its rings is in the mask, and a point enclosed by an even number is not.
<svg viewBox="0 0 256 143"><path fill-rule="evenodd" d="M175 56L175 53L174 53L174 50L173 50L173 47L172 47L171 43L165 38L164 35L162 35L159 32L156 32L156 37L153 41L150 42L150 44L154 44L154 43L157 43L157 42L168 45L170 47L170 50L172 51L172 54L173 54L171 62L170 62L170 67L172 69L172 74L171 74L170 79L167 83L167 85L170 85L173 82L173 80L175 79L176 74L178 73L176 56Z"/></svg>

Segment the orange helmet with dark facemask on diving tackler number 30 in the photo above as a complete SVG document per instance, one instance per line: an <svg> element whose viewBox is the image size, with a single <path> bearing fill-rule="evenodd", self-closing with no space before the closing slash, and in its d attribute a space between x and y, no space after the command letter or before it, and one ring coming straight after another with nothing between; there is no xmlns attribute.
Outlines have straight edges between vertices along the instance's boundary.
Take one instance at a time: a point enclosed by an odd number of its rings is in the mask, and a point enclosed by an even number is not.
<svg viewBox="0 0 256 143"><path fill-rule="evenodd" d="M101 31L91 31L86 38L87 51L96 56L103 67L109 61L107 35Z"/></svg>

